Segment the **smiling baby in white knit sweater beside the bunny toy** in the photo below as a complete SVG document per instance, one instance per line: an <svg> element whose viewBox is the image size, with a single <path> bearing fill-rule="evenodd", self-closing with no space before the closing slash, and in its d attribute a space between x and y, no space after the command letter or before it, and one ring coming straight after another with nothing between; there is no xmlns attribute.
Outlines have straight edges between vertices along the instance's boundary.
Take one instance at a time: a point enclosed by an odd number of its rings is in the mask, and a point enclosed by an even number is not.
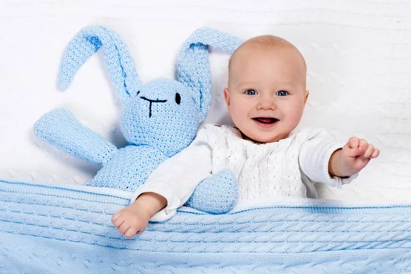
<svg viewBox="0 0 411 274"><path fill-rule="evenodd" d="M323 129L297 127L308 99L306 62L276 36L245 41L229 60L224 97L232 121L206 125L189 147L166 160L112 223L132 238L151 221L164 221L197 185L229 169L238 179L238 201L279 196L317 198L315 182L340 187L354 179L379 150L356 137L335 142Z"/></svg>

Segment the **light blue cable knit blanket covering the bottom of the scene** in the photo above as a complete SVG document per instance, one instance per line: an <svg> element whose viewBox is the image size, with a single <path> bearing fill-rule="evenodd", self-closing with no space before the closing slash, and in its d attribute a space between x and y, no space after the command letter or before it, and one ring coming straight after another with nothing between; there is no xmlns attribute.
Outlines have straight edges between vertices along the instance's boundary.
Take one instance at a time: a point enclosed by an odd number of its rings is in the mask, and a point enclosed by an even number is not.
<svg viewBox="0 0 411 274"><path fill-rule="evenodd" d="M125 239L110 219L130 195L0 181L0 273L411 272L411 205L183 207Z"/></svg>

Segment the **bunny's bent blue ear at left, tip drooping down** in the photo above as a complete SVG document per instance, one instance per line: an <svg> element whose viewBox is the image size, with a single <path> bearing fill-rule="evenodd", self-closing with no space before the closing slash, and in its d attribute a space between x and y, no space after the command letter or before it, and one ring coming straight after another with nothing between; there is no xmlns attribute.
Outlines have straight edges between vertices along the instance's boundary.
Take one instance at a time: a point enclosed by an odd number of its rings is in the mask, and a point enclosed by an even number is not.
<svg viewBox="0 0 411 274"><path fill-rule="evenodd" d="M127 45L103 26L85 27L69 42L58 75L58 88L65 90L80 66L100 47L103 47L105 65L117 95L125 103L138 92L140 80Z"/></svg>

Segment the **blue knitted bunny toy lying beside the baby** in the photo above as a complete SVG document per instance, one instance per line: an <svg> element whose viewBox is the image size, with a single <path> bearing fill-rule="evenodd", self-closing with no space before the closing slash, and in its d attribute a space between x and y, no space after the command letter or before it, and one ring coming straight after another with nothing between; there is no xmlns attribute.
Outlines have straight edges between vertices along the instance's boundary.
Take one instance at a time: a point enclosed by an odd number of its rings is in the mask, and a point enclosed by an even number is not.
<svg viewBox="0 0 411 274"><path fill-rule="evenodd" d="M103 164L86 185L133 192L161 162L190 145L206 118L212 99L208 46L232 53L241 42L214 29L197 29L179 52L178 81L154 79L142 84L123 40L107 27L85 27L64 53L59 88L65 90L79 67L102 47L108 73L123 103L121 129L129 145L117 149L65 109L42 116L34 133L77 158ZM186 206L224 213L234 206L237 196L236 178L225 170L201 182Z"/></svg>

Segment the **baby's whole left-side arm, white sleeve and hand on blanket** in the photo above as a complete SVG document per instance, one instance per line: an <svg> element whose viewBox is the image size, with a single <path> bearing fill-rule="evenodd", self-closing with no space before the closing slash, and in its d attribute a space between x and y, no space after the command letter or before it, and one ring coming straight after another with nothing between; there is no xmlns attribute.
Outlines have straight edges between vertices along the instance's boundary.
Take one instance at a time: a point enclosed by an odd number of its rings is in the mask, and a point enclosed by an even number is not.
<svg viewBox="0 0 411 274"><path fill-rule="evenodd" d="M162 162L149 175L134 192L132 204L112 216L112 223L126 238L132 238L146 229L150 219L170 219L197 185L211 176L211 171L212 149L206 129L200 129L190 146Z"/></svg>

